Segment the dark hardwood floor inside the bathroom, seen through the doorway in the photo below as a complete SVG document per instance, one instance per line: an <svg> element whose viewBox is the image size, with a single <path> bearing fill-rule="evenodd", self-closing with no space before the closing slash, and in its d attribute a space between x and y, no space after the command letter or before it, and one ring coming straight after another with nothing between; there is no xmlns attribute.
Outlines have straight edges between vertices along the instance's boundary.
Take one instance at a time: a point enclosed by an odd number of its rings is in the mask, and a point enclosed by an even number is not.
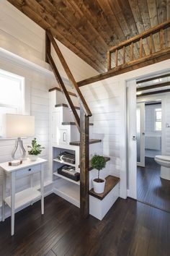
<svg viewBox="0 0 170 256"><path fill-rule="evenodd" d="M160 169L153 158L146 158L145 168L138 167L137 198L170 213L170 181L160 178Z"/></svg>

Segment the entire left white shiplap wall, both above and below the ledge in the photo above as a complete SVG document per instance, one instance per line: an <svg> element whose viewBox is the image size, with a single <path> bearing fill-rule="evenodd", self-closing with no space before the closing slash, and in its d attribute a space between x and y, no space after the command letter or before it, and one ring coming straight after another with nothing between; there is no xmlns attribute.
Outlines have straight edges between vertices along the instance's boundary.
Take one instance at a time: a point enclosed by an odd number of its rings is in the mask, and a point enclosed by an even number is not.
<svg viewBox="0 0 170 256"><path fill-rule="evenodd" d="M83 80L98 74L96 70L86 64L79 56L73 54L62 43L58 42L58 45L76 80ZM14 55L9 54L9 52ZM66 77L56 56L55 61L63 77ZM40 69L40 67L46 70ZM45 147L41 156L48 159L48 89L56 86L56 81L53 72L49 71L49 65L45 63L45 30L42 30L35 22L30 20L22 12L19 12L18 9L6 0L0 0L0 69L19 74L25 78L28 102L27 109L30 108L30 113L35 116L35 137ZM30 138L24 140L26 148L30 141ZM0 140L0 162L9 161L13 145L14 140ZM45 179L51 179L52 176L49 173L48 163L45 165L45 170ZM35 177L35 183L37 181L38 177ZM17 182L17 189L27 187L29 183L29 179L23 179Z"/></svg>

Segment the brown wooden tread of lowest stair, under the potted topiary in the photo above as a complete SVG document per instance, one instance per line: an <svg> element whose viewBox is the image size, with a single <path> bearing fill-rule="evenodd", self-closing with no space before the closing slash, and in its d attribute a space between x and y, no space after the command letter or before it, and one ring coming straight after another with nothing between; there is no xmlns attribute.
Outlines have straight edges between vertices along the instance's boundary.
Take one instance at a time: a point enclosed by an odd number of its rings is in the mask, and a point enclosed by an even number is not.
<svg viewBox="0 0 170 256"><path fill-rule="evenodd" d="M93 197L97 197L99 200L103 200L104 197L106 197L109 192L117 185L117 183L120 182L120 178L117 178L115 176L109 175L106 178L106 184L104 187L104 192L102 194L97 194L94 192L94 189L90 189L89 195Z"/></svg>

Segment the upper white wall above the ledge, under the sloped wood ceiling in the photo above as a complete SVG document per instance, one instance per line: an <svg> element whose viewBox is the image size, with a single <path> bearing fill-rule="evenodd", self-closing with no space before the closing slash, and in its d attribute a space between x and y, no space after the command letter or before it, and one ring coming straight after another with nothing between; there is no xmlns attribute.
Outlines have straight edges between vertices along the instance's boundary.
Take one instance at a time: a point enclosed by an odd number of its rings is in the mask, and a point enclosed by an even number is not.
<svg viewBox="0 0 170 256"><path fill-rule="evenodd" d="M50 69L49 65L45 63L45 30L6 0L0 1L0 17L0 47L39 64L41 67ZM58 42L58 46L77 81L98 74L95 69L62 43ZM56 56L55 61L57 61L61 74L66 77Z"/></svg>

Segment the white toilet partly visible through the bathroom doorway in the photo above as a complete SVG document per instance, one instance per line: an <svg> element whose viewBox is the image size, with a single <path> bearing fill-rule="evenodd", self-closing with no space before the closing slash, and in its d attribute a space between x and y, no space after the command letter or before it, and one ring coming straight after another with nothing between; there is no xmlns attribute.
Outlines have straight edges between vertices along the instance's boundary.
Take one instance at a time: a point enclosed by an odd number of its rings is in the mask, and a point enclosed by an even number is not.
<svg viewBox="0 0 170 256"><path fill-rule="evenodd" d="M170 180L170 155L156 155L155 161L161 166L161 178Z"/></svg>

